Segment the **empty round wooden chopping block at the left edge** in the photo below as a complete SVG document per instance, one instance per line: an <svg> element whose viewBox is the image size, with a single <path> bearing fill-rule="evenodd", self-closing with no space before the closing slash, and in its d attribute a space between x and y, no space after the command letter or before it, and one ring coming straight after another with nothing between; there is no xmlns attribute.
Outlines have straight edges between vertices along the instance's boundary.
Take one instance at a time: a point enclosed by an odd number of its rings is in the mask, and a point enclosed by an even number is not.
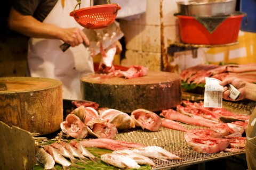
<svg viewBox="0 0 256 170"><path fill-rule="evenodd" d="M40 134L59 130L63 121L61 81L0 78L0 121Z"/></svg>

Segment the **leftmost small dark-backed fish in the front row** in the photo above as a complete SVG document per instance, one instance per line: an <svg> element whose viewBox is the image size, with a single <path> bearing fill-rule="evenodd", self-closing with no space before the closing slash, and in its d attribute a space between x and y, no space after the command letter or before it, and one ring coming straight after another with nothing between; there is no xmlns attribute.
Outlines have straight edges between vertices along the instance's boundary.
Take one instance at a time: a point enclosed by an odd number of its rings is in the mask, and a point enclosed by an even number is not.
<svg viewBox="0 0 256 170"><path fill-rule="evenodd" d="M56 170L54 167L55 162L53 157L48 154L43 148L39 148L36 151L36 159L39 163L41 163L44 166L44 169L46 170Z"/></svg>

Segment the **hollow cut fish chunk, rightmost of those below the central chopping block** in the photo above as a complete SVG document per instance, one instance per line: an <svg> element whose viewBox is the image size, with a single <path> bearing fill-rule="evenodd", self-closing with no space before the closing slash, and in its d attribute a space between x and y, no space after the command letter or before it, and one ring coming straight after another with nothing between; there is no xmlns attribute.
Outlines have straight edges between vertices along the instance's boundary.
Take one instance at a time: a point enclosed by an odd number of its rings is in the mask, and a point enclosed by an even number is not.
<svg viewBox="0 0 256 170"><path fill-rule="evenodd" d="M140 126L142 129L156 132L162 126L161 117L146 109L136 109L131 113L131 117L135 125Z"/></svg>

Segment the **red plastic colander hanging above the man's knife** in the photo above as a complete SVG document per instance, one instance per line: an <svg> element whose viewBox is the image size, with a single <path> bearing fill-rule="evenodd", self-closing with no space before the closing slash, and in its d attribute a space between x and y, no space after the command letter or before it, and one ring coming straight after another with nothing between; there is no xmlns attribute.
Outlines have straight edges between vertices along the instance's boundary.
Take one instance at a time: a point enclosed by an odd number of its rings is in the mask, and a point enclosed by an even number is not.
<svg viewBox="0 0 256 170"><path fill-rule="evenodd" d="M80 6L79 2L77 5ZM75 9L73 12L70 12L70 16L73 16L78 24L87 29L101 29L108 27L115 21L121 6L118 4L106 4L81 8L79 10Z"/></svg>

